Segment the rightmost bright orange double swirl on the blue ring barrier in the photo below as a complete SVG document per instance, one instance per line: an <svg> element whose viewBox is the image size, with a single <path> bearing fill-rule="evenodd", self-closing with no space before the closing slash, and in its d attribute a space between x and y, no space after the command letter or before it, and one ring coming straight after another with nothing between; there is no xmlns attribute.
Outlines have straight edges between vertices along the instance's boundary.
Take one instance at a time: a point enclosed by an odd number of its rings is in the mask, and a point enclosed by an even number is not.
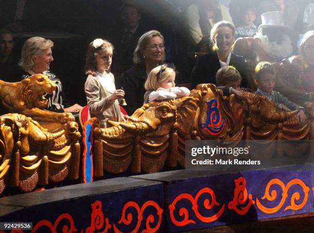
<svg viewBox="0 0 314 233"><path fill-rule="evenodd" d="M305 183L302 180L300 180L300 179L293 179L293 180L289 181L286 186L279 179L272 179L272 180L270 180L268 182L268 184L266 185L265 194L262 197L262 199L264 200L266 198L268 201L275 200L277 198L277 191L276 190L272 190L271 193L269 193L270 187L272 185L279 185L281 187L281 189L283 190L281 201L280 201L280 203L277 206L275 206L273 208L268 208L268 207L265 207L264 205L262 205L261 202L258 199L256 199L257 206L259 207L259 209L261 211L263 211L266 214L276 213L284 205L284 203L285 203L285 201L286 201L286 199L288 197L288 190L289 190L289 188L292 185L295 185L295 184L298 184L298 185L300 185L302 187L302 190L303 190L303 193L304 193L304 199L303 199L301 204L297 205L296 204L296 200L300 200L300 193L293 193L292 196L291 196L291 199L290 199L291 205L287 206L284 209L284 211L286 211L288 209L291 209L291 210L302 209L305 206L305 204L307 202L307 199L308 199L309 187L306 186Z"/></svg>

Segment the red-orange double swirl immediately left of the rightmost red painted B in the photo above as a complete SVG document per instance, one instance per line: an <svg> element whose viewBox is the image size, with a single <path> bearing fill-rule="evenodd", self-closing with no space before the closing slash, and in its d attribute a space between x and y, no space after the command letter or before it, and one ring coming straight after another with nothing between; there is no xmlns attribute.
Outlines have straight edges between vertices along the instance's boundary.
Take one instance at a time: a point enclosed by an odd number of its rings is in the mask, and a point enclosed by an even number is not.
<svg viewBox="0 0 314 233"><path fill-rule="evenodd" d="M192 195L187 194L187 193L181 194L178 197L176 197L173 200L173 202L169 205L170 218L172 220L172 223L175 224L176 226L185 226L185 225L190 224L190 223L195 224L194 220L189 219L189 211L186 208L184 208L184 207L180 208L180 210L179 210L179 215L181 217L184 216L184 219L182 221L176 221L176 219L175 219L175 217L173 215L173 211L175 210L176 203L178 203L182 199L187 199L187 200L189 200L192 203L192 210L193 210L195 216L199 220L201 220L202 222L210 223L210 222L213 222L213 221L217 220L222 215L222 213L223 213L223 211L225 209L225 204L222 205L222 207L220 208L220 210L218 211L217 214L215 214L215 215L213 215L211 217L202 216L200 214L200 212L199 212L199 209L198 209L198 200L201 197L201 195L203 195L203 194L209 194L211 196L211 200L212 200L211 203L210 203L210 200L208 198L204 200L203 204L204 204L204 207L206 209L211 209L215 205L220 205L216 201L216 197L215 197L215 194L214 194L213 190L211 188L208 188L208 187L202 188L197 193L195 198L193 198Z"/></svg>

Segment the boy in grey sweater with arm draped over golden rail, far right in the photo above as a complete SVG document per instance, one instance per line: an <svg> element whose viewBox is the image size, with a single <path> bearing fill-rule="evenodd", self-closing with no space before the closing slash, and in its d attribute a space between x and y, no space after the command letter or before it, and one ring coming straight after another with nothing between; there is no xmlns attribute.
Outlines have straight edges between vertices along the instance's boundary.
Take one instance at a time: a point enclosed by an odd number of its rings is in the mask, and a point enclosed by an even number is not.
<svg viewBox="0 0 314 233"><path fill-rule="evenodd" d="M288 98L284 97L277 91L273 91L276 81L276 68L274 65L267 61L262 61L258 63L255 69L255 82L258 85L258 90L255 92L259 95L267 97L267 99L272 100L283 111L295 111L300 109L299 119L300 122L306 120L306 115L304 113L304 108L300 107L298 104L291 102Z"/></svg>

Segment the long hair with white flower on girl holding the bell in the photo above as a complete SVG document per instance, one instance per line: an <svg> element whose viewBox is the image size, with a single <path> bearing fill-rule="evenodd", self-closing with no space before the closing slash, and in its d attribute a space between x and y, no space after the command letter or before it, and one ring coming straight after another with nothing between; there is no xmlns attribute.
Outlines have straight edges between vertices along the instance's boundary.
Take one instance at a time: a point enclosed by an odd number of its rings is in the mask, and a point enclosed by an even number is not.
<svg viewBox="0 0 314 233"><path fill-rule="evenodd" d="M107 50L108 48L112 48L112 51L113 51L113 45L108 40L103 39L103 44L95 48L93 46L93 42L94 41L91 41L91 43L89 43L88 48L87 48L84 72L87 75L92 75L96 77L97 76L97 63L96 63L95 56L105 52L105 50Z"/></svg>

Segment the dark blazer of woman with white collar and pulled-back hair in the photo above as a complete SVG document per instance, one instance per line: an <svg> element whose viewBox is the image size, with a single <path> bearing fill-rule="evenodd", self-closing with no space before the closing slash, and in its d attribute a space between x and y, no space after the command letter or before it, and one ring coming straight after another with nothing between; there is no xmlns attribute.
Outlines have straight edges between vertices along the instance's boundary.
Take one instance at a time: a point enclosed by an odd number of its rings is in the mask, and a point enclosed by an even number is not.
<svg viewBox="0 0 314 233"><path fill-rule="evenodd" d="M248 66L244 57L231 53L229 66L233 66L240 72L242 77L241 86L247 87ZM199 56L192 71L191 88L195 88L200 83L213 83L217 85L216 73L220 68L217 52L210 52Z"/></svg>

